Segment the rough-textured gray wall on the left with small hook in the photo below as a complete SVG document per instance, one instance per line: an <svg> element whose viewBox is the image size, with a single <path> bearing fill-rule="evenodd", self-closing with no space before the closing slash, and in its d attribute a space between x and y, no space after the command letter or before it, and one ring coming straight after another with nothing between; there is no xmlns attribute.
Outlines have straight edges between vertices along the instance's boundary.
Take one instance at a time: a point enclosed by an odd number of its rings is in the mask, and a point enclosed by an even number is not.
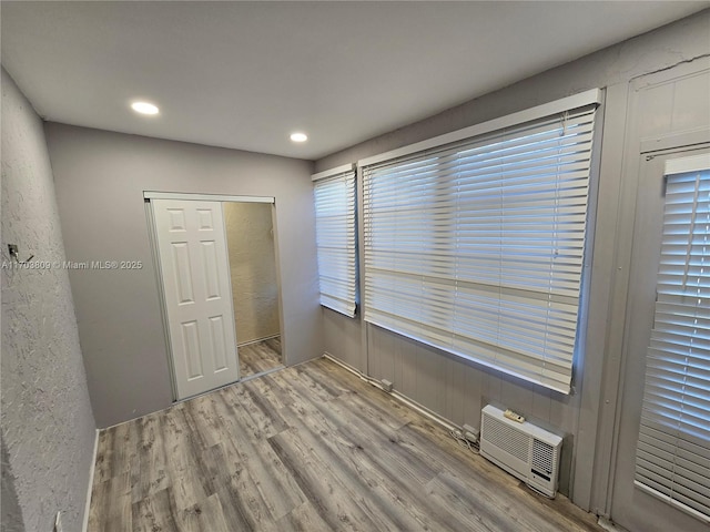
<svg viewBox="0 0 710 532"><path fill-rule="evenodd" d="M4 265L8 244L22 258L64 259L42 122L2 70ZM81 530L95 423L67 270L2 268L1 374L3 530L22 530L23 520L27 530L49 531L57 511L64 530ZM6 513L12 490L21 515Z"/></svg>

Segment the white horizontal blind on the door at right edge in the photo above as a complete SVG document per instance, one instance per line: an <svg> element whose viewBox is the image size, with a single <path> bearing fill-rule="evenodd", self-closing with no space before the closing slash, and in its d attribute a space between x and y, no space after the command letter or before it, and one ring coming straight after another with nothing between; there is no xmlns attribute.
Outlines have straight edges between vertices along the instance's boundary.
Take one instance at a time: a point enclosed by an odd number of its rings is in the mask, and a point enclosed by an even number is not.
<svg viewBox="0 0 710 532"><path fill-rule="evenodd" d="M636 482L710 522L710 170L667 180Z"/></svg>

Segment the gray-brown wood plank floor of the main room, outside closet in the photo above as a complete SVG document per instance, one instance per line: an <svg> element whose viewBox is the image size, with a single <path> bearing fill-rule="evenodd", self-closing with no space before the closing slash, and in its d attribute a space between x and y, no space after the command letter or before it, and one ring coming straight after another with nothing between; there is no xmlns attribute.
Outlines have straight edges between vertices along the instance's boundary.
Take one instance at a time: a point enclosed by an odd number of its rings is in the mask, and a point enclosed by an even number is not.
<svg viewBox="0 0 710 532"><path fill-rule="evenodd" d="M601 530L326 359L99 438L90 531Z"/></svg>

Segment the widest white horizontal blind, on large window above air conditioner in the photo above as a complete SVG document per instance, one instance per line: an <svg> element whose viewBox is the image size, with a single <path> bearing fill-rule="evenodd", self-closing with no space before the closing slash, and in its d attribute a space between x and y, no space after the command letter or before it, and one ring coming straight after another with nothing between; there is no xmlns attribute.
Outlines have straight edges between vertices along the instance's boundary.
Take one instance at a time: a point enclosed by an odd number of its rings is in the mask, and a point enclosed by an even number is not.
<svg viewBox="0 0 710 532"><path fill-rule="evenodd" d="M365 319L569 392L595 109L366 166Z"/></svg>

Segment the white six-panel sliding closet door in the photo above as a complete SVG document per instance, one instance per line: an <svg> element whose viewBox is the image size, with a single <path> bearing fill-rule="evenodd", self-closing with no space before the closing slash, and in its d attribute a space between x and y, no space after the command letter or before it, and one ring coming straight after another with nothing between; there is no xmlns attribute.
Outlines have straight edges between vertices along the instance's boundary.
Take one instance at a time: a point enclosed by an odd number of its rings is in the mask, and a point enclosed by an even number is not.
<svg viewBox="0 0 710 532"><path fill-rule="evenodd" d="M239 380L220 202L153 200L179 399Z"/></svg>

